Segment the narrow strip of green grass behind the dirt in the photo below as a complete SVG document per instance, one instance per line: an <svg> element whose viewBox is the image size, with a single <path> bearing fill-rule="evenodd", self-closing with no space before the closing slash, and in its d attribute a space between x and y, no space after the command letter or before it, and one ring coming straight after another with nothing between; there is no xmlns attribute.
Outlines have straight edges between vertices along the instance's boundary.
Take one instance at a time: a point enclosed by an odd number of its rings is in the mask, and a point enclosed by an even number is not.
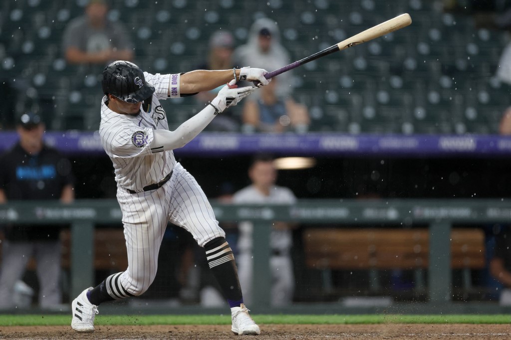
<svg viewBox="0 0 511 340"><path fill-rule="evenodd" d="M511 315L252 315L260 324L508 324ZM0 326L67 326L69 315L0 314ZM99 315L97 325L227 325L230 315Z"/></svg>

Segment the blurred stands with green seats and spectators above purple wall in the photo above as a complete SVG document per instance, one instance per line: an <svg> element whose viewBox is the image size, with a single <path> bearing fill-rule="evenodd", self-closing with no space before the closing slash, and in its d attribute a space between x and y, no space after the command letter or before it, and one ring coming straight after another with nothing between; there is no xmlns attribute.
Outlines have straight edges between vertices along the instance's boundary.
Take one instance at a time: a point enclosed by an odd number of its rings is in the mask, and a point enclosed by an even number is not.
<svg viewBox="0 0 511 340"><path fill-rule="evenodd" d="M404 12L413 19L406 30L279 77L281 99L307 110L298 131L498 133L509 104L506 1L87 3L2 3L0 84L11 98L0 107L3 129L36 106L48 129L97 130L98 75L111 60L149 72L240 63L271 71ZM259 36L268 46L257 46ZM199 109L197 98L167 105L174 124ZM212 129L242 131L242 109L231 115ZM257 131L246 119L243 131Z"/></svg>

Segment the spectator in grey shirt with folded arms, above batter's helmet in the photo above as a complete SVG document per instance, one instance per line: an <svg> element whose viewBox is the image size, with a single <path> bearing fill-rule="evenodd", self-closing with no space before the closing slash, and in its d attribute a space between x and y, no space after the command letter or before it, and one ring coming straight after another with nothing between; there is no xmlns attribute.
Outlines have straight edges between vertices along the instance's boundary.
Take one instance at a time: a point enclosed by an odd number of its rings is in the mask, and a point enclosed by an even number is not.
<svg viewBox="0 0 511 340"><path fill-rule="evenodd" d="M90 0L85 15L69 22L64 31L63 51L70 64L101 66L115 60L132 60L133 44L120 23L106 17L105 0Z"/></svg>

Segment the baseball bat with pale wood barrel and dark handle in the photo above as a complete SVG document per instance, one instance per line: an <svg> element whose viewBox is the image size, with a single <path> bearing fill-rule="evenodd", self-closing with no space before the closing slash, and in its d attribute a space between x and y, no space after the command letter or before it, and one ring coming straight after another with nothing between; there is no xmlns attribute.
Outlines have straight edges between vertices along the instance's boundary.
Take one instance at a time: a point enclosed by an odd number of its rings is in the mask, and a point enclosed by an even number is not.
<svg viewBox="0 0 511 340"><path fill-rule="evenodd" d="M286 66L276 69L274 71L268 72L266 75L264 75L264 77L266 79L270 79L270 78L278 76L286 71L289 71L290 69L293 69L300 65L306 64L310 61L327 56L327 55L332 54L337 51L345 50L346 48L353 47L353 46L361 44L363 42L373 40L375 38L381 37L382 35L388 34L390 32L400 30L400 29L410 25L410 23L412 23L412 19L408 13L398 15L395 18L384 21L384 22L379 23L378 25L373 26L363 32L355 34L351 38L347 38L346 40L343 40L333 46L325 48L323 51L319 51L309 57L305 57L304 59L295 61L294 63L291 63L289 65L286 65Z"/></svg>

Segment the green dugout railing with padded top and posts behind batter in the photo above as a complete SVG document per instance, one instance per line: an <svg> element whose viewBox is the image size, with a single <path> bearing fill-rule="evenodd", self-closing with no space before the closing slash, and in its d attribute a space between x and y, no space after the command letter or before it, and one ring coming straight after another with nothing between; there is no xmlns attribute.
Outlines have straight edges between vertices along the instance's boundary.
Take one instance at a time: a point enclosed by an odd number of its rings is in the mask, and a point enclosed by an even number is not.
<svg viewBox="0 0 511 340"><path fill-rule="evenodd" d="M253 296L258 297L251 308L258 312L508 312L495 302L454 302L451 286L451 242L454 224L482 225L511 223L511 204L507 200L298 200L294 205L225 205L212 201L220 222L252 221L253 241ZM120 223L121 210L114 200L77 200L73 204L58 202L11 202L0 206L0 223L70 224L71 265L69 294L77 296L83 287L94 281L94 231L96 224ZM346 307L336 303L294 304L289 308L270 307L269 237L272 221L292 221L308 225L368 224L428 226L429 263L426 303L396 303L388 307ZM119 312L113 306L107 312ZM103 307L103 306L102 306ZM170 309L170 310L169 310ZM207 312L207 308L185 306L169 308L165 312ZM121 309L124 313L124 308ZM220 310L220 309L218 309ZM148 312L164 312L149 308ZM211 312L216 309L212 308Z"/></svg>

